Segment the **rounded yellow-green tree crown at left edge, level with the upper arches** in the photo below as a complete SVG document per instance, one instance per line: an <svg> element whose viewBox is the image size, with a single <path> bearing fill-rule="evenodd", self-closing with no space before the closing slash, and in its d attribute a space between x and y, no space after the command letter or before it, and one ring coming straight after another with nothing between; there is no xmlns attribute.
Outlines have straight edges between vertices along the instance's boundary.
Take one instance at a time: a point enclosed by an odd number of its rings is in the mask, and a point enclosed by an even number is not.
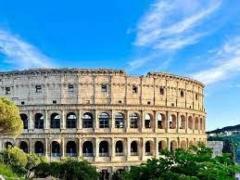
<svg viewBox="0 0 240 180"><path fill-rule="evenodd" d="M22 132L23 122L18 107L6 98L0 98L0 134L17 136Z"/></svg>

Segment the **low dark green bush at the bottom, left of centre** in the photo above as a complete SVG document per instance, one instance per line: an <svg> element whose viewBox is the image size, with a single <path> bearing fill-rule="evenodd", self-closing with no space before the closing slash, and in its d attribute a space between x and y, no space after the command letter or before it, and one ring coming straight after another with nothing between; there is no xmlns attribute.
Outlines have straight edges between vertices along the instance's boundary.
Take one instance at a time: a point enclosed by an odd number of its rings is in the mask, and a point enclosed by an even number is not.
<svg viewBox="0 0 240 180"><path fill-rule="evenodd" d="M41 163L35 169L35 177L53 176L66 180L97 180L96 168L87 161L67 159L60 162Z"/></svg>

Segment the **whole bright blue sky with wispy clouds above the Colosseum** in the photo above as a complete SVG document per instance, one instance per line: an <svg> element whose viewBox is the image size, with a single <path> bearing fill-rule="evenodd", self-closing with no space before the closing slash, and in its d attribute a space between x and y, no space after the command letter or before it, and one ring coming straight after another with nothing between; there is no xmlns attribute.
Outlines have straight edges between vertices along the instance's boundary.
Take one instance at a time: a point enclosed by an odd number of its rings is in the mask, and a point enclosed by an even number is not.
<svg viewBox="0 0 240 180"><path fill-rule="evenodd" d="M240 123L239 0L0 0L0 70L164 71L206 84L207 129Z"/></svg>

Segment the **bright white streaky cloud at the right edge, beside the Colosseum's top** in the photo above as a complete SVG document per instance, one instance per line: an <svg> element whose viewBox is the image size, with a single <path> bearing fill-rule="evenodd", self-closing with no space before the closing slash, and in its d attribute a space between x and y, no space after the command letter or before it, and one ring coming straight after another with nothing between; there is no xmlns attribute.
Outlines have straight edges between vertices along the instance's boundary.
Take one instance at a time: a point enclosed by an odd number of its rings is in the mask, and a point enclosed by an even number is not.
<svg viewBox="0 0 240 180"><path fill-rule="evenodd" d="M212 55L210 68L194 73L193 78L209 85L240 73L240 36L231 38Z"/></svg>

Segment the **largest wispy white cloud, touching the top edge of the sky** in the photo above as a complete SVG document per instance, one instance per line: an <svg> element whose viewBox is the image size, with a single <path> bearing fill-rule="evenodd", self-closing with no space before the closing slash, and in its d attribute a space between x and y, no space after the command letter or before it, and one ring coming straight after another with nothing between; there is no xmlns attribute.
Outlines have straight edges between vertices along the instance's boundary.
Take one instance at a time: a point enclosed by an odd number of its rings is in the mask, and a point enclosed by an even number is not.
<svg viewBox="0 0 240 180"><path fill-rule="evenodd" d="M209 33L202 25L221 4L222 0L157 0L140 19L134 45L161 54L161 52L176 53L196 44ZM138 59L139 65L135 67L143 66L150 58L137 58L129 65L136 65Z"/></svg>

